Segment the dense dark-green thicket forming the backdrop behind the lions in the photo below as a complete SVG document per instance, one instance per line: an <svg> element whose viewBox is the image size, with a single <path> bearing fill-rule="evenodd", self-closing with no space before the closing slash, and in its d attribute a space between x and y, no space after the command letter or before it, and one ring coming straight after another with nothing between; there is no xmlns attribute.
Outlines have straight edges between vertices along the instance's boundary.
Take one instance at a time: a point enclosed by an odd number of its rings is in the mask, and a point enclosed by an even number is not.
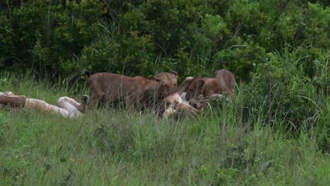
<svg viewBox="0 0 330 186"><path fill-rule="evenodd" d="M0 65L39 77L226 68L250 80L289 45L313 76L329 56L329 23L327 1L1 1Z"/></svg>

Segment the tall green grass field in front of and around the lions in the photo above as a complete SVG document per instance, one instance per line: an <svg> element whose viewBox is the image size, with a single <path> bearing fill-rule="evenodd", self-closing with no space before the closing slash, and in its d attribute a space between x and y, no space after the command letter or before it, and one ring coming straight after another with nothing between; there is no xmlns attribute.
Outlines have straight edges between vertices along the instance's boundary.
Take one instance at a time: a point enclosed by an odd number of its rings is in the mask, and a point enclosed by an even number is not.
<svg viewBox="0 0 330 186"><path fill-rule="evenodd" d="M79 100L72 89L65 81L0 78L0 91L50 104ZM179 120L120 109L75 120L0 111L0 185L328 185L330 155L319 140L329 143L329 99L316 125L292 135L280 117L245 117L244 98L238 89L234 103Z"/></svg>

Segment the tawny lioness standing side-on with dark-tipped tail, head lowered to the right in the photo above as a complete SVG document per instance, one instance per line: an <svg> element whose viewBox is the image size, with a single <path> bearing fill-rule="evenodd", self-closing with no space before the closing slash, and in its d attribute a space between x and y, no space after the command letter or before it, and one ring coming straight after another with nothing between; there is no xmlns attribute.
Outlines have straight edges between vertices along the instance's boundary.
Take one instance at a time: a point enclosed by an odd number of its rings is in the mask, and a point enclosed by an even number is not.
<svg viewBox="0 0 330 186"><path fill-rule="evenodd" d="M85 70L85 74L89 72ZM171 82L171 81L166 81ZM124 101L128 111L134 111L135 104L141 104L141 108L158 103L169 94L171 83L151 77L128 77L114 73L94 73L88 79L90 88L89 106L104 105L104 102L118 103Z"/></svg>

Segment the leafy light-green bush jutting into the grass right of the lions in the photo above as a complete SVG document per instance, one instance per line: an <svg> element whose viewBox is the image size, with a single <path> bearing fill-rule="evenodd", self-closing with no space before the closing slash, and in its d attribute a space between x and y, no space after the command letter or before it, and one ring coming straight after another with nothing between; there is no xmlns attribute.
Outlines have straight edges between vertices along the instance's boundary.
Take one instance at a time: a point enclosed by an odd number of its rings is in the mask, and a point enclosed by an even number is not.
<svg viewBox="0 0 330 186"><path fill-rule="evenodd" d="M252 114L262 111L269 123L281 118L291 130L309 129L326 105L326 95L318 99L313 81L305 75L302 61L308 54L290 50L291 46L286 46L281 54L268 53L264 63L256 66L248 96L253 101L247 102L252 103Z"/></svg>

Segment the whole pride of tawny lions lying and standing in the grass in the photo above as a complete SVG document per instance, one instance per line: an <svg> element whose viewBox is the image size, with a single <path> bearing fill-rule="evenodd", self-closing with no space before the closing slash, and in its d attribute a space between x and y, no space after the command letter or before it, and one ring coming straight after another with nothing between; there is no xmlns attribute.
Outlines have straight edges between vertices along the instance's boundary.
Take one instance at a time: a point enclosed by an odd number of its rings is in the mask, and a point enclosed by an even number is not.
<svg viewBox="0 0 330 186"><path fill-rule="evenodd" d="M0 92L1 107L24 107L36 111L58 113L65 118L79 118L82 113L96 107L122 105L127 111L154 108L163 118L197 116L202 113L207 98L222 99L228 94L233 99L236 80L228 70L216 70L214 77L186 77L177 86L178 73L158 73L153 77L129 77L114 73L94 73L88 76L90 96L83 95L81 103L61 97L55 105L40 99L16 96L13 92Z"/></svg>

